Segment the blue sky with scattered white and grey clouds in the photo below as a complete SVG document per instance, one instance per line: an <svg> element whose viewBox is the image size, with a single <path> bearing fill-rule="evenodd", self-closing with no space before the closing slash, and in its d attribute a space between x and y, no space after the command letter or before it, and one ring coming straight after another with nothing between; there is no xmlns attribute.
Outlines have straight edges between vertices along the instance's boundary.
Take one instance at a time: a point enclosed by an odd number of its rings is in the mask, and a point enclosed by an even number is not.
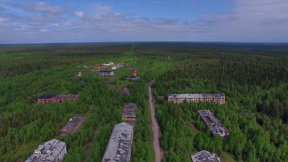
<svg viewBox="0 0 288 162"><path fill-rule="evenodd" d="M288 0L0 0L0 43L288 42Z"/></svg>

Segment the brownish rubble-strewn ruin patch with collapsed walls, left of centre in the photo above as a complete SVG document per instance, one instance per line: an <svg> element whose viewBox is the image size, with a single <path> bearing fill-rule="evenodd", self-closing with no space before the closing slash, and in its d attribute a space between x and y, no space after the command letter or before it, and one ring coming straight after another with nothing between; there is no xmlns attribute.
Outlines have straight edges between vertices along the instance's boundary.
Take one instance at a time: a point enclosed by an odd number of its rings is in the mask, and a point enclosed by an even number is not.
<svg viewBox="0 0 288 162"><path fill-rule="evenodd" d="M66 133L62 133L61 136L67 135L67 133L75 133L87 119L84 115L75 115L71 118L67 124L64 126L67 129Z"/></svg>

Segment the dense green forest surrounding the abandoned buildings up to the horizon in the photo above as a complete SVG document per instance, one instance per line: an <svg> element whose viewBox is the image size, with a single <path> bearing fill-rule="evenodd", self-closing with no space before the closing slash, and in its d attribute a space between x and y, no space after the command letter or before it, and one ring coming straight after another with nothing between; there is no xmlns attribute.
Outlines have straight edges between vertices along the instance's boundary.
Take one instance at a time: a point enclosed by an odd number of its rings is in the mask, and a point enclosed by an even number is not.
<svg viewBox="0 0 288 162"><path fill-rule="evenodd" d="M190 155L201 150L217 153L224 162L285 162L287 53L285 44L253 43L0 45L0 161L25 161L41 142L56 138L66 143L65 162L101 162L113 126L122 122L124 104L134 102L138 119L131 161L153 162L148 109L148 84L153 81L164 162L190 162ZM112 78L83 68L107 61L126 66ZM140 80L126 80L130 67L137 68ZM79 71L83 76L75 78ZM124 87L130 94L119 94ZM69 93L79 93L80 99L36 104L43 94ZM225 93L226 103L178 105L166 101L169 93ZM197 113L204 108L229 130L226 139L210 135ZM61 128L76 114L85 115L86 121L76 133L60 137Z"/></svg>

